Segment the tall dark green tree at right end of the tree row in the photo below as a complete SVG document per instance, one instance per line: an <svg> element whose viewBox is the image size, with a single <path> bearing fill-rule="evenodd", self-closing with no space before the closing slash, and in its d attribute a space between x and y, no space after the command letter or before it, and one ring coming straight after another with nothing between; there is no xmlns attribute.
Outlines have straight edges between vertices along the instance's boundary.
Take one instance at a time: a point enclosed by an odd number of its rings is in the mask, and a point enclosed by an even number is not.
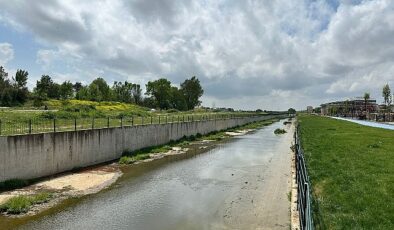
<svg viewBox="0 0 394 230"><path fill-rule="evenodd" d="M186 79L181 84L181 91L185 97L188 110L194 109L201 104L199 99L203 95L204 90L201 87L200 80L195 76L191 79Z"/></svg>

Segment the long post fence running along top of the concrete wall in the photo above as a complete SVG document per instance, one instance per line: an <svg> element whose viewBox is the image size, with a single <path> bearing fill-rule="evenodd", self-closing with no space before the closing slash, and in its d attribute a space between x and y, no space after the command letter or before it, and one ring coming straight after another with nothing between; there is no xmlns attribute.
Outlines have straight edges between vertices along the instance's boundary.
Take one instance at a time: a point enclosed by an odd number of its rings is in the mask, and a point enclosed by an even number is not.
<svg viewBox="0 0 394 230"><path fill-rule="evenodd" d="M178 122L206 121L230 118L252 117L257 114L181 114L132 116L120 118L74 118L74 119L29 119L22 121L7 121L0 119L0 136L23 135L32 133L50 133L127 127L135 125L167 124ZM259 115L261 116L261 115Z"/></svg>

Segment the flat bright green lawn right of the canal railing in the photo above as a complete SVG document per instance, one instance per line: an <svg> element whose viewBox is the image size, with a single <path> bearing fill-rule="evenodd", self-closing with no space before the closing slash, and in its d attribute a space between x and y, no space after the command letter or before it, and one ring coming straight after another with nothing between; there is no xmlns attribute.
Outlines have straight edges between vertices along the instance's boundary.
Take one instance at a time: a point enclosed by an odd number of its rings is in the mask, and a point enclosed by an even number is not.
<svg viewBox="0 0 394 230"><path fill-rule="evenodd" d="M300 115L318 229L394 229L394 131Z"/></svg>

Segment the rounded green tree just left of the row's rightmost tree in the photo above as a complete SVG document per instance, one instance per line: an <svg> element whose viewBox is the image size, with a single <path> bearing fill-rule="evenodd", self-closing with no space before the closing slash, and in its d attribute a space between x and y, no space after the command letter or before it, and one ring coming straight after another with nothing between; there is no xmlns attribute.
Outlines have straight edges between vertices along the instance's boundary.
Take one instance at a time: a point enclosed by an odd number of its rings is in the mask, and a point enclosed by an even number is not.
<svg viewBox="0 0 394 230"><path fill-rule="evenodd" d="M146 84L146 95L155 100L155 104L160 109L168 109L170 106L171 82L165 78L156 81L149 81Z"/></svg>

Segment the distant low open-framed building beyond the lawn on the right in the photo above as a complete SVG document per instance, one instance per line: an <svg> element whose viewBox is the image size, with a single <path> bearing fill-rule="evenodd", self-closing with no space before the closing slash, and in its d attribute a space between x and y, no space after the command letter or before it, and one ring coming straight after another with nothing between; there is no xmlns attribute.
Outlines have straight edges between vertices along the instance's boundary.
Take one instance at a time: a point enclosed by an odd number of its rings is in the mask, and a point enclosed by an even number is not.
<svg viewBox="0 0 394 230"><path fill-rule="evenodd" d="M365 119L369 114L376 113L379 106L375 99L364 100L356 97L346 101L334 101L321 105L321 114L341 117L358 117Z"/></svg>

